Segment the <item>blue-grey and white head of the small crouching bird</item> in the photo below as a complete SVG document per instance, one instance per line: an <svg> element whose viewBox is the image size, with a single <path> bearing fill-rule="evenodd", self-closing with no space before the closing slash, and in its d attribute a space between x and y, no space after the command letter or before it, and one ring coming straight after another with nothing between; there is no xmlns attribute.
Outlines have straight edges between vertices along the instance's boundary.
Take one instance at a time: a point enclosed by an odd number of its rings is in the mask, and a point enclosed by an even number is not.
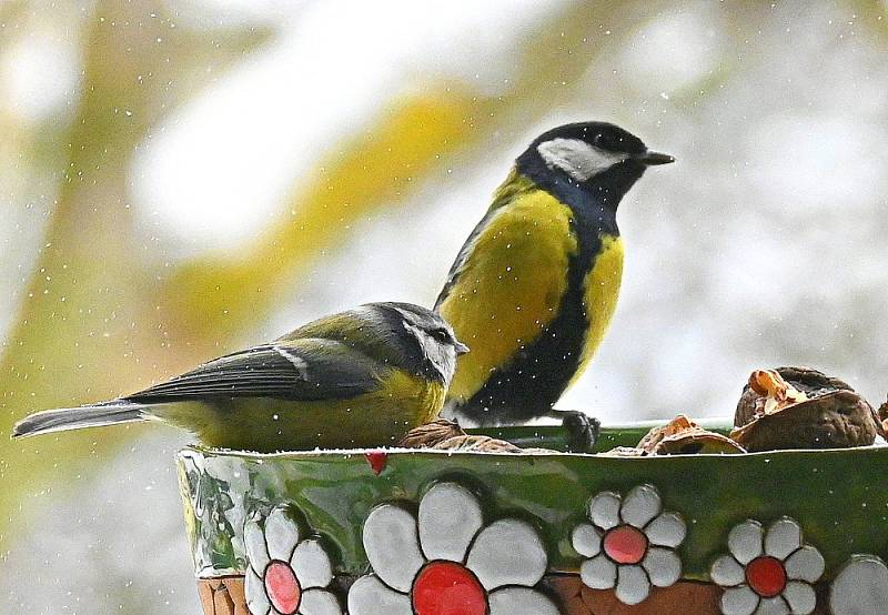
<svg viewBox="0 0 888 615"><path fill-rule="evenodd" d="M364 309L384 323L397 366L450 385L456 357L468 346L456 339L447 321L412 303L370 303Z"/></svg>

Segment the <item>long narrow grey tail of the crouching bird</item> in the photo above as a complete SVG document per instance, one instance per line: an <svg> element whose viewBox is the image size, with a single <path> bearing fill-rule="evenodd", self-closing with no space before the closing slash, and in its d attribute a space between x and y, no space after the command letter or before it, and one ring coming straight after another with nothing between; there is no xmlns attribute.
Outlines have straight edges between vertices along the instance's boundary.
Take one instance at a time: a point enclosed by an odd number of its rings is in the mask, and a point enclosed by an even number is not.
<svg viewBox="0 0 888 615"><path fill-rule="evenodd" d="M144 405L122 400L80 407L44 410L16 423L12 427L12 437L147 421L150 415L144 410Z"/></svg>

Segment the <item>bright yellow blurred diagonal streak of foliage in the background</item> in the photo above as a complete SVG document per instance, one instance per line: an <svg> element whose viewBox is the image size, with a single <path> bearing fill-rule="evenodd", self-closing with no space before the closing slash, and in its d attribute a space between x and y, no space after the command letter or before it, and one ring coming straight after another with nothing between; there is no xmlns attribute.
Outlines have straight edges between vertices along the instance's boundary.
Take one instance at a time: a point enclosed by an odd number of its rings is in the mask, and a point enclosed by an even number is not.
<svg viewBox="0 0 888 615"><path fill-rule="evenodd" d="M210 340L235 332L271 309L265 295L309 268L349 234L353 221L391 206L462 143L472 97L451 89L397 101L380 120L327 153L293 199L290 215L235 258L186 265L163 288L170 322L182 335ZM183 293L183 289L189 292Z"/></svg>

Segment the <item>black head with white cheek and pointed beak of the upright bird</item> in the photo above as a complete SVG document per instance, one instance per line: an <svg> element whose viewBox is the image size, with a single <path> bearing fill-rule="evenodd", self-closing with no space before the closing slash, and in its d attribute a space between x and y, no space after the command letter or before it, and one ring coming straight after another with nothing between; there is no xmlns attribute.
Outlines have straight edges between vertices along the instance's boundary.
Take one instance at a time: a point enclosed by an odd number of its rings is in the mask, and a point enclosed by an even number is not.
<svg viewBox="0 0 888 615"><path fill-rule="evenodd" d="M617 125L579 122L544 132L516 164L518 172L556 195L578 188L616 209L648 167L674 161L648 150L640 139Z"/></svg>

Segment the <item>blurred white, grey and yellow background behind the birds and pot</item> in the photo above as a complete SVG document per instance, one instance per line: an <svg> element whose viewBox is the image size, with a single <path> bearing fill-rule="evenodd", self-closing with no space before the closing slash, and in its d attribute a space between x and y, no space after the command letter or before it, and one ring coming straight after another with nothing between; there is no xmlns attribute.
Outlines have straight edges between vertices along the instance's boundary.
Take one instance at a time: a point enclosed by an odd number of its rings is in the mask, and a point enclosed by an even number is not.
<svg viewBox="0 0 888 615"><path fill-rule="evenodd" d="M673 153L561 402L731 415L749 371L888 392L888 3L0 2L0 612L199 613L154 426L9 441L357 303L433 303L537 133Z"/></svg>

